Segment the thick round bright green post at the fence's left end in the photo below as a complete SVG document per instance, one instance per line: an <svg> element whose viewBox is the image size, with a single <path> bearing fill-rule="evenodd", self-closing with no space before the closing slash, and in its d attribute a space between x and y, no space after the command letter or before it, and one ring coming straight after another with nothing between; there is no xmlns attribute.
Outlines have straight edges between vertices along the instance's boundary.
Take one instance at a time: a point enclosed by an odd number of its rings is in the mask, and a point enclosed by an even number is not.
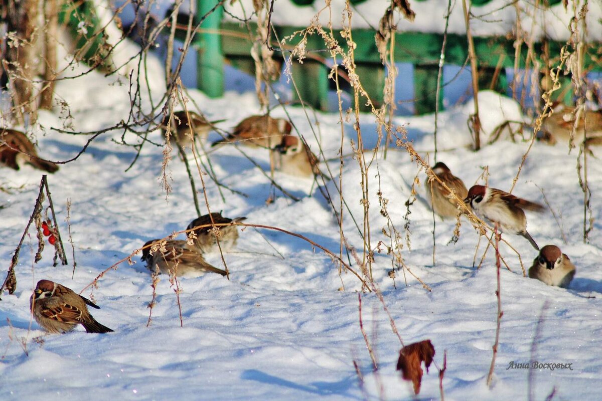
<svg viewBox="0 0 602 401"><path fill-rule="evenodd" d="M217 0L197 0L197 16L199 20L211 11ZM194 47L197 49L196 84L197 88L209 97L220 97L224 93L224 56L222 53L222 38L217 34L222 22L223 7L217 7L213 13L206 16L200 24L200 29L210 32L199 32L194 35Z"/></svg>

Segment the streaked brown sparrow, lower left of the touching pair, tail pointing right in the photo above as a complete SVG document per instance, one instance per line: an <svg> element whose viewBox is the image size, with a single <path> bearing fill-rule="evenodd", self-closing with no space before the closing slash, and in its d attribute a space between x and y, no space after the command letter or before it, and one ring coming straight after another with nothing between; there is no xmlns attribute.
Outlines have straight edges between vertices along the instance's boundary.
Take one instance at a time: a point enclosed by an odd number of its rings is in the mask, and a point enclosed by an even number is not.
<svg viewBox="0 0 602 401"><path fill-rule="evenodd" d="M161 242L161 240L153 239L144 243L144 246L148 246L148 248L142 249L141 257L146 262L146 267L152 272L176 277L198 275L204 272L226 275L226 271L209 265L203 255L184 240L168 240L165 243L165 251L162 251L161 245L158 245L156 251L152 251L152 244L155 242Z"/></svg>

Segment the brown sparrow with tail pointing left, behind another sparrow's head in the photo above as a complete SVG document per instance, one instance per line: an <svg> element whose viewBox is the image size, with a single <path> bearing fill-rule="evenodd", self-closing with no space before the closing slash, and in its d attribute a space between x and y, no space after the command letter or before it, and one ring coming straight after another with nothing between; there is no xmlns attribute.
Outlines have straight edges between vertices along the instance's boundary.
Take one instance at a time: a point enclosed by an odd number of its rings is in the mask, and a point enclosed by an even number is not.
<svg viewBox="0 0 602 401"><path fill-rule="evenodd" d="M230 135L213 142L211 146L238 142L242 145L272 149L279 145L282 142L282 136L290 134L292 129L291 123L284 118L252 115L240 121Z"/></svg>

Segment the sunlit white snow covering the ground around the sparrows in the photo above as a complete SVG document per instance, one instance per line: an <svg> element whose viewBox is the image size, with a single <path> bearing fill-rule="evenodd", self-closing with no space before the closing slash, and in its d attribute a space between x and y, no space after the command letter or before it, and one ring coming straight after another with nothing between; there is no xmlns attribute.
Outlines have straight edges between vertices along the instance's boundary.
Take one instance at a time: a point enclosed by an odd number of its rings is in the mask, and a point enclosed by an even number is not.
<svg viewBox="0 0 602 401"><path fill-rule="evenodd" d="M282 0L281 0L282 1ZM162 73L158 61L149 62L149 81L157 102L162 94ZM80 66L82 69L84 67ZM85 69L84 69L85 70ZM76 75L79 70L67 73ZM57 83L57 98L69 105L72 118L60 118L61 111L41 112L40 126L32 127L40 155L54 161L73 158L90 138L69 135L62 129L94 131L113 126L128 117L128 79L105 77L92 72ZM254 94L226 93L209 99L190 90L191 100L211 119L225 118L219 127L229 130L242 118L259 112ZM492 121L521 120L514 103L492 93L481 93L482 121L486 130ZM150 99L144 97L143 107ZM193 103L188 107L194 109ZM4 108L4 105L3 105ZM517 174L528 142L500 140L471 152L465 118L470 106L439 114L438 160L445 161L467 186L479 180L482 167L489 167L489 183L509 189ZM320 130L316 138L309 132L310 121L300 108L287 112L314 152L318 139L327 159L338 157L341 124L344 128L342 171L344 210L343 230L349 243L362 256L364 208L360 204L361 173L353 159L351 141L357 143L352 122L341 123L338 114L315 114ZM282 108L273 115L284 117ZM314 114L310 114L311 122ZM505 117L504 117L505 116ZM462 120L464 118L464 120ZM433 161L433 115L399 117L396 124L408 129L421 156ZM487 125L489 124L489 125ZM368 149L376 144L374 117L362 114L362 136ZM383 304L374 293L361 293L355 275L339 274L332 259L305 240L274 230L241 230L235 251L225 254L231 280L218 275L182 278L179 286L183 327L174 288L167 277L157 287L157 304L147 326L152 300L151 276L138 256L135 264L124 262L98 281L98 289L82 295L93 297L101 306L93 316L115 330L110 334L87 334L82 328L64 335L44 335L32 322L29 296L42 278L57 281L79 292L102 271L124 259L146 240L183 230L196 217L190 185L179 161L169 162L170 185L167 195L160 185L162 148L144 144L140 157L129 169L136 150L120 144L122 130L103 133L94 139L76 161L61 165L48 177L57 219L67 237L67 201L77 266L72 278L73 260L65 241L69 266L52 266L49 246L40 263L33 263L36 237L29 231L16 268L17 291L2 295L0 301L0 399L411 399L412 387L402 381L395 367L401 344L391 331ZM139 143L126 133L126 142ZM217 139L212 133L210 139ZM154 132L149 139L161 143ZM258 164L268 169L267 152L244 148ZM299 201L276 191L270 197L270 183L235 147L223 146L209 156L216 175L226 186L248 195L223 189L203 176L212 211L222 210L230 217L247 216L250 224L284 228L308 237L338 254L340 231L332 209L312 186L311 180L276 173L275 180ZM365 153L368 161L371 152ZM583 193L579 187L577 153L561 145L536 143L526 159L514 194L543 203L544 198L559 223L548 210L542 215L527 213L529 232L540 246L559 245L577 266L577 275L568 290L545 286L523 277L517 256L506 246L502 256L512 272L501 269L500 345L492 388L485 384L495 336L494 254L490 251L480 269L473 268L478 235L465 220L461 237L452 237L453 222L435 219L436 263L433 266L433 218L424 199L426 176L403 149L392 147L386 161L374 159L368 173L371 244L385 242L382 233L386 219L380 213L376 192L388 199L387 210L400 232L402 256L428 291L408 272L397 272L395 286L389 278L391 259L375 253L374 282L382 291L387 310L405 344L430 338L436 349L435 362L442 366L447 351L443 380L448 400L515 400L527 397L529 375L533 394L543 399L556 388L557 399L597 399L602 362L600 310L602 284L599 269L601 216L598 194L602 189L602 164L588 159L589 187L592 191L594 230L590 243L582 240ZM191 159L192 160L192 159ZM203 161L206 159L203 158ZM324 162L322 163L323 167ZM335 173L326 184L338 205L339 162L329 162ZM322 170L326 170L322 168ZM20 171L1 169L0 263L8 266L26 222L33 210L41 178L40 171L25 166ZM377 175L378 174L378 175ZM415 177L417 200L410 206L410 244L405 240L406 200L411 198ZM197 188L200 178L195 174ZM202 194L199 194L202 200ZM352 221L355 218L360 230ZM562 232L567 243L562 242ZM183 238L183 236L179 236ZM520 252L526 268L536 257L529 243L519 236L504 236ZM481 242L479 257L483 251ZM221 266L219 254L209 254L210 263ZM352 256L351 267L360 271ZM407 281L407 284L406 284ZM340 291L344 287L343 291ZM374 349L379 370L372 372L364 338L359 328L358 295L362 298L364 329ZM540 317L541 316L541 317ZM534 340L535 333L538 337ZM40 337L41 340L33 341ZM27 353L22 341L26 343ZM535 347L535 349L534 349ZM364 376L359 385L353 361ZM571 363L572 370L507 369L510 362ZM420 399L438 399L435 366L424 375Z"/></svg>

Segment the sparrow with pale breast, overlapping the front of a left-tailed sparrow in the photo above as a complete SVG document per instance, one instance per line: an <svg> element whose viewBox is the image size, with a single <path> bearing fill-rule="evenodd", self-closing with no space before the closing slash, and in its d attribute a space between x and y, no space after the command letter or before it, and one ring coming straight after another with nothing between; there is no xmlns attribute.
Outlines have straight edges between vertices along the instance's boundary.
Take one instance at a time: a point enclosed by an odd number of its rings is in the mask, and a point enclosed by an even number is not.
<svg viewBox="0 0 602 401"><path fill-rule="evenodd" d="M276 171L297 177L313 177L314 174L320 174L318 158L297 136L282 136L282 142L275 149L278 150L274 163Z"/></svg>

